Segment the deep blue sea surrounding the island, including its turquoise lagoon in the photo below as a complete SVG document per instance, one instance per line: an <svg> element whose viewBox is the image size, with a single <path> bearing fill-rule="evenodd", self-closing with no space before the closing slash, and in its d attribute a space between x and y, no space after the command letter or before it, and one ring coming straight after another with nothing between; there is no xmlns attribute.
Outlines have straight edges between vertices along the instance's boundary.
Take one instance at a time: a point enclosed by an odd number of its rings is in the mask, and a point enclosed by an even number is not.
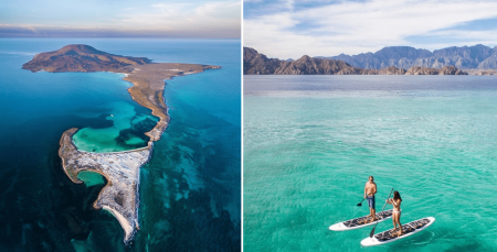
<svg viewBox="0 0 497 252"><path fill-rule="evenodd" d="M121 74L21 69L67 44L222 66L167 80L171 122L141 168L140 230L127 245L117 220L92 207L103 184L75 185L63 173L59 140L75 127L83 150L135 149L157 119ZM240 250L240 48L237 40L0 40L0 251Z"/></svg>

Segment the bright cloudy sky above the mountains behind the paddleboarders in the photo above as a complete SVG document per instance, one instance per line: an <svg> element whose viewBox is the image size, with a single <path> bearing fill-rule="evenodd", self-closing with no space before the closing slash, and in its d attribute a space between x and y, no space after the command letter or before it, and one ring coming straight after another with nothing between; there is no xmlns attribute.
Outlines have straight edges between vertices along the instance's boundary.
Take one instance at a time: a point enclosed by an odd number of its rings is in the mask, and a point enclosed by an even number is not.
<svg viewBox="0 0 497 252"><path fill-rule="evenodd" d="M244 0L243 43L269 57L497 45L497 0Z"/></svg>

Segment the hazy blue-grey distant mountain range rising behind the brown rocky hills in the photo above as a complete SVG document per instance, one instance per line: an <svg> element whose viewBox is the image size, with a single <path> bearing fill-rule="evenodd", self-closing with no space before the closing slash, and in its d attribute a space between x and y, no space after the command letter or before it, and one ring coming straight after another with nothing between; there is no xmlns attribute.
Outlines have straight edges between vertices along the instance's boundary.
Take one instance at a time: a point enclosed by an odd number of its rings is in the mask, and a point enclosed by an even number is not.
<svg viewBox="0 0 497 252"><path fill-rule="evenodd" d="M389 66L411 68L414 66L442 68L455 66L461 69L494 69L497 68L497 46L490 48L485 45L447 47L435 50L416 50L410 46L390 46L376 53L358 55L340 54L334 57L321 57L343 61L355 67L380 69Z"/></svg>

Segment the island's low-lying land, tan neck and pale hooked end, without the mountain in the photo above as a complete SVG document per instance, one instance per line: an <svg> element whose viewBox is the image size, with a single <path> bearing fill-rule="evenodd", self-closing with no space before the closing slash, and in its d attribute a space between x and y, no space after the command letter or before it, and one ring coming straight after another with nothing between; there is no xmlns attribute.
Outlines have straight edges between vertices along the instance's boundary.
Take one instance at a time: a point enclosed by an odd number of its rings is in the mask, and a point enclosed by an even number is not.
<svg viewBox="0 0 497 252"><path fill-rule="evenodd" d="M167 63L157 63L157 64L149 64L151 67L144 67L142 65L139 66L139 68L133 68L131 73L119 73L119 72L113 72L116 74L124 74L125 77L123 80L129 81L133 84L131 87L129 87L127 90L129 95L131 96L131 99L135 100L138 105L141 107L148 108L151 110L151 114L159 118L159 121L154 127L152 130L146 132L145 134L150 138L148 142L148 146L139 147L135 150L128 150L123 152L106 152L106 153L93 153L93 152L85 152L77 150L76 145L74 144L74 141L72 136L74 133L77 132L77 129L73 128L67 131L65 131L61 138L60 141L60 151L59 156L62 158L62 164L65 174L70 177L70 179L75 184L82 184L83 182L77 178L77 174L81 171L89 171L95 172L101 175L103 175L107 179L107 184L104 186L104 188L98 194L97 199L93 204L93 207L95 209L104 209L113 213L114 217L119 221L119 224L121 226L125 235L124 235L124 242L128 242L133 239L134 234L137 230L139 230L139 221L138 221L138 209L139 209L139 169L141 166L147 164L151 158L151 151L154 149L154 142L160 140L161 134L167 129L169 123L169 114L168 114L168 107L166 105L166 100L163 98L163 90L166 87L166 81L168 79L172 79L173 77L183 76L187 72L188 74L197 74L202 73L204 69L212 69L212 68L220 68L215 66L205 66L205 65L193 65L193 64L167 64ZM147 66L147 65L145 65ZM165 70L158 70L159 67L169 66L175 67L173 70L167 69L167 75L163 75ZM151 68L151 69L150 69ZM150 75L150 72L151 75ZM160 72L160 73L157 73ZM68 138L68 139L67 139ZM68 141L70 143L68 144ZM109 157L107 158L114 158L118 160L117 156L121 154L133 153L133 152L147 152L142 158L139 158L138 161L134 162L134 166L136 166L136 172L134 173L134 176L131 177L134 179L134 187L130 189L128 187L119 188L117 190L110 189L113 183L116 180L121 180L119 177L110 176L109 174L105 173L103 168L98 167L98 164L93 164L94 166L87 166L82 165L74 167L71 165L71 163L75 162L75 160L84 160L86 163L96 162L97 158L95 157L98 155L107 155ZM74 158L74 155L77 157ZM86 160L85 160L86 158ZM71 161L72 160L72 161ZM113 165L118 171L119 165ZM131 198L131 200L128 202L129 206L127 206L125 209L119 209L118 205L115 202L115 200L109 200L109 198L113 198L113 193L115 194L124 194L127 195L126 198ZM133 196L130 194L133 191ZM114 207L113 207L114 206ZM128 215L126 215L126 212ZM126 218L126 216L128 218Z"/></svg>

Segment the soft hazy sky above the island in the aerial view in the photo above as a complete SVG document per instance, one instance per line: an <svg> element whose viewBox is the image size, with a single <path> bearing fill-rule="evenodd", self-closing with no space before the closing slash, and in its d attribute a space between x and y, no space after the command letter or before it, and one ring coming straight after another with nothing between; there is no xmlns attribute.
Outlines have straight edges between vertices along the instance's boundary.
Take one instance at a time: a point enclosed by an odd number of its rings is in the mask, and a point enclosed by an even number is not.
<svg viewBox="0 0 497 252"><path fill-rule="evenodd" d="M0 37L240 39L240 0L0 0Z"/></svg>

